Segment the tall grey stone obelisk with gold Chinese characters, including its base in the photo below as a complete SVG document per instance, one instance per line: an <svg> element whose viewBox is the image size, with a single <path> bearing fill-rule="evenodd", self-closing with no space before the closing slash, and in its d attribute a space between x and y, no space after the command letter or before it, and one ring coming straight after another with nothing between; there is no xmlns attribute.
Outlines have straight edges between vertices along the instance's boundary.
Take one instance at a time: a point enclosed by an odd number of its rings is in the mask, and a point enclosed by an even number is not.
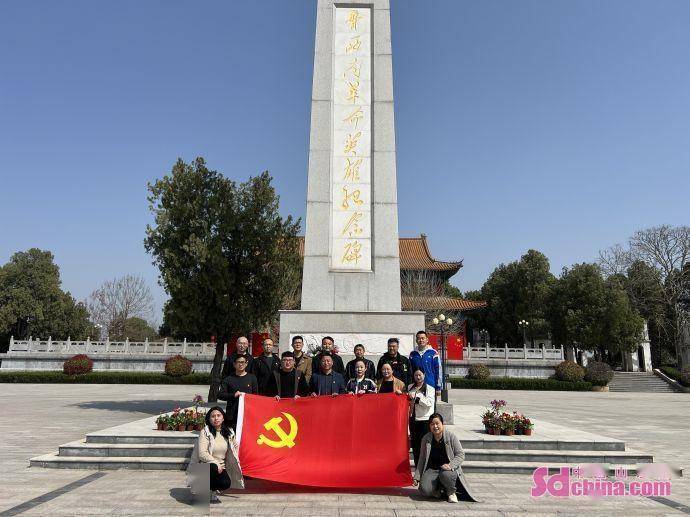
<svg viewBox="0 0 690 517"><path fill-rule="evenodd" d="M281 311L280 347L331 335L409 354L424 313L402 312L389 0L319 0L306 236L299 311Z"/></svg>

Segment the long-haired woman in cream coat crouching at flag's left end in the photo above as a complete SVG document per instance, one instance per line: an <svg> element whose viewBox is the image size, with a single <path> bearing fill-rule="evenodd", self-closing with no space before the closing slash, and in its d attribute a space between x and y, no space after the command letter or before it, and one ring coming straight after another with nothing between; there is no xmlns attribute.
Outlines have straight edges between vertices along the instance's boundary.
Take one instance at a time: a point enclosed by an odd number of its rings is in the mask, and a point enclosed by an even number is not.
<svg viewBox="0 0 690 517"><path fill-rule="evenodd" d="M197 451L198 461L209 464L212 493L222 492L230 487L244 488L235 433L227 426L225 413L218 406L206 413L206 426L199 433L194 452ZM195 461L196 458L192 457L190 463Z"/></svg>

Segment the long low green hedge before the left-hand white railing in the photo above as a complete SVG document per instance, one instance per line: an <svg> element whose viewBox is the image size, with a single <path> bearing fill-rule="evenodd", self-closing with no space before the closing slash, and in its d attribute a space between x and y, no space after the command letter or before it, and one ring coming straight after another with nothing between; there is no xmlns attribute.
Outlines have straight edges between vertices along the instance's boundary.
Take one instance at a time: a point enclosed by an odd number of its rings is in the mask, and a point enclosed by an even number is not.
<svg viewBox="0 0 690 517"><path fill-rule="evenodd" d="M170 377L158 372L89 372L81 375L65 375L61 371L12 371L0 370L0 383L51 383L51 384L202 384L209 385L210 373L192 373L183 377Z"/></svg>

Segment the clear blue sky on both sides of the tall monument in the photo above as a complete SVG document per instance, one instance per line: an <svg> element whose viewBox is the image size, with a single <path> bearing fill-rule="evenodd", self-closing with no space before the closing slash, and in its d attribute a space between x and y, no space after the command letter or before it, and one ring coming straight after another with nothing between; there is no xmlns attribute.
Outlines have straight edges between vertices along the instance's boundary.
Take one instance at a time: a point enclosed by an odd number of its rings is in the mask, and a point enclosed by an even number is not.
<svg viewBox="0 0 690 517"><path fill-rule="evenodd" d="M401 236L476 289L688 224L690 3L392 0ZM157 270L146 184L204 156L304 216L315 0L0 3L0 262L83 299Z"/></svg>

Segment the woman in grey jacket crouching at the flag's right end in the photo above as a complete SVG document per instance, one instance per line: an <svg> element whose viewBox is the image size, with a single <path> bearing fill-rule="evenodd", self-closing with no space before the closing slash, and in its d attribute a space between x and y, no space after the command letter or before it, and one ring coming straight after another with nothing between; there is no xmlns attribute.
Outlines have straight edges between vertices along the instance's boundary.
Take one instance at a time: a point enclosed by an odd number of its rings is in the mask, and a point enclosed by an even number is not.
<svg viewBox="0 0 690 517"><path fill-rule="evenodd" d="M465 459L460 440L454 433L443 428L443 416L434 413L429 417L429 430L424 435L419 453L419 465L414 473L414 485L427 497L441 497L445 491L449 503L461 499L479 502L472 495L460 464Z"/></svg>

